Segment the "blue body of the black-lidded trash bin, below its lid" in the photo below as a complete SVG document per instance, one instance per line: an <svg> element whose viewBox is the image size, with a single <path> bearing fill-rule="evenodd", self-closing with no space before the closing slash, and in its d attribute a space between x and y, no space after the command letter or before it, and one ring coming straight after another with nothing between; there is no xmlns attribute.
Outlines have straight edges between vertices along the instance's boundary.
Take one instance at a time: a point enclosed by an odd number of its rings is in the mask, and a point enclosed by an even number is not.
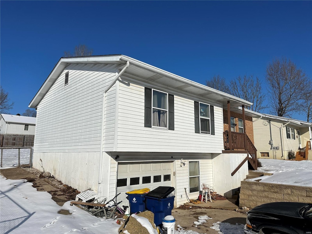
<svg viewBox="0 0 312 234"><path fill-rule="evenodd" d="M171 215L174 197L157 198L145 196L146 209L154 213L156 226L160 226L163 223L164 217Z"/></svg>

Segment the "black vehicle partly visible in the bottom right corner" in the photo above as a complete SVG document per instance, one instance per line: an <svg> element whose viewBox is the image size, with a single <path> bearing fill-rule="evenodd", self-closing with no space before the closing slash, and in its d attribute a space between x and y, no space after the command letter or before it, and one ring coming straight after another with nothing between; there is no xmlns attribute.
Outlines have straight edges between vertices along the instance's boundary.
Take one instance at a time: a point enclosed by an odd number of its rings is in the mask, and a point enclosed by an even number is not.
<svg viewBox="0 0 312 234"><path fill-rule="evenodd" d="M312 204L272 202L247 213L245 234L312 234Z"/></svg>

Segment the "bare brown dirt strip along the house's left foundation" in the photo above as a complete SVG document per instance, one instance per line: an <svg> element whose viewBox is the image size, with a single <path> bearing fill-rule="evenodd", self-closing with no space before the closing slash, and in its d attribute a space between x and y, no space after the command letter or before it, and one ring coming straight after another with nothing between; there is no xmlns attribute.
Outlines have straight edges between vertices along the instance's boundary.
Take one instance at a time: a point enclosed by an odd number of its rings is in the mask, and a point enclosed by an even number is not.
<svg viewBox="0 0 312 234"><path fill-rule="evenodd" d="M75 200L79 191L72 188L54 177L39 178L42 174L35 168L7 168L1 169L0 173L7 179L25 179L32 183L37 191L46 191L51 194L51 199L62 206L67 201Z"/></svg>

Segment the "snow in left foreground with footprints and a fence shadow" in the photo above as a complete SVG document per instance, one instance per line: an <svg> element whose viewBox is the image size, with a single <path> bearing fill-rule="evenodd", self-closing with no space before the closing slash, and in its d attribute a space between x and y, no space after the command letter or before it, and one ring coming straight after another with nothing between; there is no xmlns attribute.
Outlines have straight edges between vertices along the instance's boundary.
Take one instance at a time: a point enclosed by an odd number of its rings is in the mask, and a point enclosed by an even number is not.
<svg viewBox="0 0 312 234"><path fill-rule="evenodd" d="M118 225L112 219L97 218L66 202L57 205L47 192L39 192L26 180L10 180L0 176L1 234L6 233L118 233ZM57 212L67 209L71 215Z"/></svg>

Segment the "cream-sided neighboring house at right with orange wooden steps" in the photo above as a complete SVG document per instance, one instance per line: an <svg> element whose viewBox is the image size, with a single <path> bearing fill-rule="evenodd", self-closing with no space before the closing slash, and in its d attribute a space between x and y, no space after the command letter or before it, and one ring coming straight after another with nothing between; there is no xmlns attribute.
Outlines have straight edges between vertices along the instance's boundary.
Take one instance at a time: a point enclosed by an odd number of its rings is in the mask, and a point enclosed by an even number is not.
<svg viewBox="0 0 312 234"><path fill-rule="evenodd" d="M254 143L258 158L288 159L290 150L296 160L312 159L312 123L246 110L252 116ZM310 152L310 153L309 153Z"/></svg>

